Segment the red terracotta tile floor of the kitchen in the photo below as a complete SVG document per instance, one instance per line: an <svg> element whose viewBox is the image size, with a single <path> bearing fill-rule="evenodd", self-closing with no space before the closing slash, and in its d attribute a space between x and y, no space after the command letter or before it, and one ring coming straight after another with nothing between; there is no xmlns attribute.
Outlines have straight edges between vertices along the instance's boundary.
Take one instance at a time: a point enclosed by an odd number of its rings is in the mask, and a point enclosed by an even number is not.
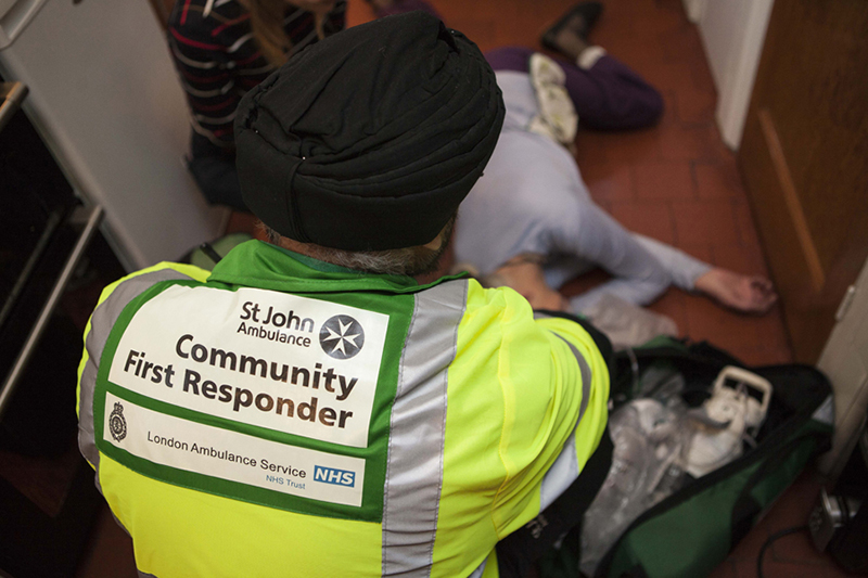
<svg viewBox="0 0 868 578"><path fill-rule="evenodd" d="M432 0L447 24L480 48L538 47L540 33L573 0ZM352 25L371 18L350 0ZM659 126L630 133L580 132L576 159L595 198L627 228L672 243L714 265L743 273L767 271L739 176L714 123L716 93L697 28L681 0L610 0L591 41L604 47L663 93L666 112ZM253 219L235 215L230 231L255 233ZM260 236L261 237L261 236ZM576 292L604 275L590 274L567 288ZM704 298L669 290L651 309L672 317L682 335L728 349L748 363L782 363L792 355L780 310L746 317ZM712 576L756 576L756 555L766 538L806 523L819 491L813 472L778 501ZM133 577L131 544L105 514L79 578ZM766 553L767 577L845 576L808 539L793 535ZM690 577L692 578L692 577Z"/></svg>

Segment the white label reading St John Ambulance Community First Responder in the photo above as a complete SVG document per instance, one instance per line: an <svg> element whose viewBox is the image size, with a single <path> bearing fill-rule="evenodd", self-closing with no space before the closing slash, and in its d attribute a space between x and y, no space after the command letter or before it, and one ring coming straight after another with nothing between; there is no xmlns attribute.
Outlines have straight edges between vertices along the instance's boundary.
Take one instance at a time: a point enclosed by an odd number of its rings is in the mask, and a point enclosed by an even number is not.
<svg viewBox="0 0 868 578"><path fill-rule="evenodd" d="M285 293L175 285L145 303L108 380L174 406L368 445L388 316Z"/></svg>

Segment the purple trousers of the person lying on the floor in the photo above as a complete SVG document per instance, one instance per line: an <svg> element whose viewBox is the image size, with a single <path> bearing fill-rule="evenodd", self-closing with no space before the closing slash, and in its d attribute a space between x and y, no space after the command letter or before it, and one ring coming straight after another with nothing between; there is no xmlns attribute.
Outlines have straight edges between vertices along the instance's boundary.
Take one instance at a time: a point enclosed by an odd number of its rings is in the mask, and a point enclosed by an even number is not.
<svg viewBox="0 0 868 578"><path fill-rule="evenodd" d="M528 72L531 55L524 47L492 50L485 59L495 70ZM663 99L651 85L625 64L605 54L588 69L558 60L566 74L566 91L583 127L628 130L653 125L663 113Z"/></svg>

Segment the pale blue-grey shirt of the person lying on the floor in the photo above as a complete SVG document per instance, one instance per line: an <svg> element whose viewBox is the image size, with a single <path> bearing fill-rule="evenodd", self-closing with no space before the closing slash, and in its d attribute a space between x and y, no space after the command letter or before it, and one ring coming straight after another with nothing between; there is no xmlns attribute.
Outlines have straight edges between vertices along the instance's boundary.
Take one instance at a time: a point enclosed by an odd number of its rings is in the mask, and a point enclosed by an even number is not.
<svg viewBox="0 0 868 578"><path fill-rule="evenodd" d="M576 312L607 293L647 305L672 284L693 290L711 266L627 231L597 206L572 155L526 130L538 114L529 76L498 72L497 80L507 117L485 174L459 210L457 261L488 274L516 255L542 255L546 280L556 288L593 267L611 273L612 280L572 299Z"/></svg>

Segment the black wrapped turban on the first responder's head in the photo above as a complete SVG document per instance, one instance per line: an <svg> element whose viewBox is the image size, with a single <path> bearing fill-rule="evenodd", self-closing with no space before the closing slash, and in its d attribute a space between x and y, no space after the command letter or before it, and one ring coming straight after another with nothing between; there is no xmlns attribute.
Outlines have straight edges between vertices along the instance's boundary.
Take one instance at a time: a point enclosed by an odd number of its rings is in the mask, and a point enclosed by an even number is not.
<svg viewBox="0 0 868 578"><path fill-rule="evenodd" d="M482 175L502 123L495 75L461 33L422 12L356 26L241 100L244 203L303 243L423 245Z"/></svg>

